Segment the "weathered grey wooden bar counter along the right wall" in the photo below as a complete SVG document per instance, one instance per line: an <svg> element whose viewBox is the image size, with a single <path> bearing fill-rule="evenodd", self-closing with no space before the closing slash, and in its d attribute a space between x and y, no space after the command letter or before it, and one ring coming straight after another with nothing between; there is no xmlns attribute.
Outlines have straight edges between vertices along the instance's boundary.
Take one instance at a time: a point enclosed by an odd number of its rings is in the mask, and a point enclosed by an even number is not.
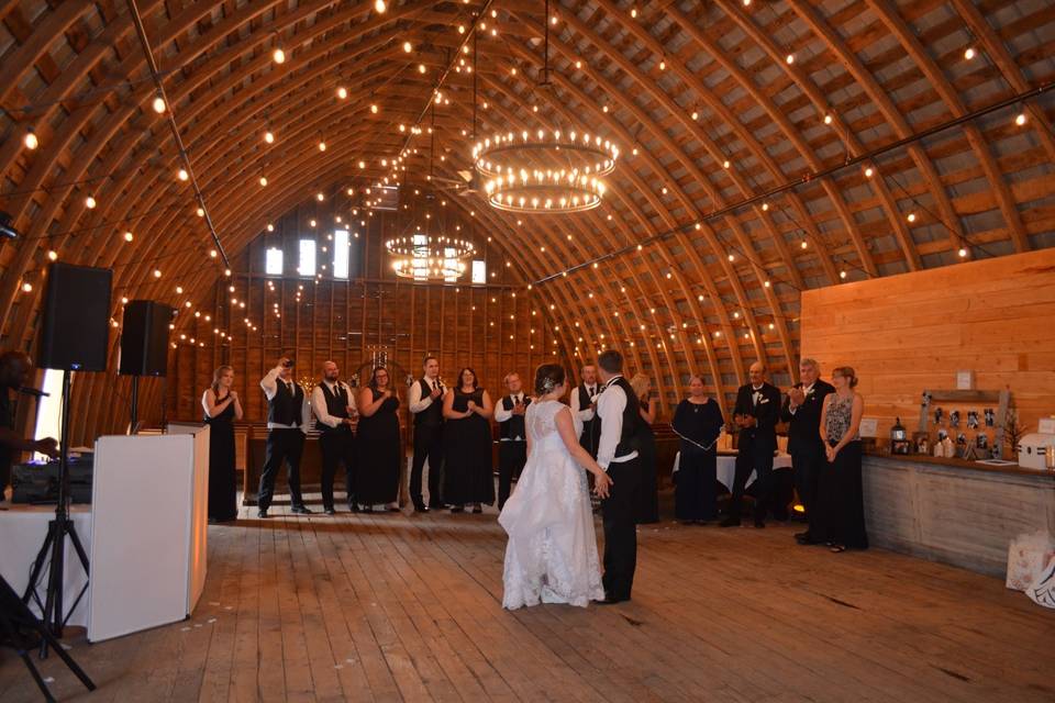
<svg viewBox="0 0 1055 703"><path fill-rule="evenodd" d="M874 546L1004 577L1022 533L1055 534L1055 472L926 456L865 455Z"/></svg>

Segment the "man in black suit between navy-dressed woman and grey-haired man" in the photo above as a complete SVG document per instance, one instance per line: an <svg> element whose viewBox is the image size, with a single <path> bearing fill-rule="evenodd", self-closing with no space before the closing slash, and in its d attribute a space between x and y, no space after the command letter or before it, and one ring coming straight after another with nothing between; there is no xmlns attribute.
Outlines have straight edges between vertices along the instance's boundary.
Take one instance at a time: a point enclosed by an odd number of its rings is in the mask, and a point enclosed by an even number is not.
<svg viewBox="0 0 1055 703"><path fill-rule="evenodd" d="M740 524L744 487L755 471L755 527L766 526L766 513L773 500L773 453L777 450L777 421L780 417L780 391L766 382L766 367L755 361L749 369L751 382L736 393L733 417L740 427L736 445L736 478L729 516L722 527Z"/></svg>

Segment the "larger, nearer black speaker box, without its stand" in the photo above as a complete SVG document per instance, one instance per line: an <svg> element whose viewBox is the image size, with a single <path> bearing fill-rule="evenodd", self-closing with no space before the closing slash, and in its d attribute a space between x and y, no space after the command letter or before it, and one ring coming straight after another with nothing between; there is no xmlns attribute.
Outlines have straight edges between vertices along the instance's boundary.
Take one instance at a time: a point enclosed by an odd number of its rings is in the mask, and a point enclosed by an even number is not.
<svg viewBox="0 0 1055 703"><path fill-rule="evenodd" d="M110 338L108 268L56 261L47 269L40 364L46 369L106 371Z"/></svg>

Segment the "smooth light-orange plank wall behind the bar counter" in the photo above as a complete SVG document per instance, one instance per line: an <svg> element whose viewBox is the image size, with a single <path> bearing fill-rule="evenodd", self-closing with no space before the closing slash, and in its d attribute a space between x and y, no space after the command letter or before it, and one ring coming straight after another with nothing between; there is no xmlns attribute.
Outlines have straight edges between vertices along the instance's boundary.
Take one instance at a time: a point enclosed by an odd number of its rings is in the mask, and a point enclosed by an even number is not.
<svg viewBox="0 0 1055 703"><path fill-rule="evenodd" d="M924 389L1011 391L1028 432L1055 414L1055 250L1003 256L802 293L802 356L852 366L865 415L914 429ZM955 410L949 403L935 403Z"/></svg>

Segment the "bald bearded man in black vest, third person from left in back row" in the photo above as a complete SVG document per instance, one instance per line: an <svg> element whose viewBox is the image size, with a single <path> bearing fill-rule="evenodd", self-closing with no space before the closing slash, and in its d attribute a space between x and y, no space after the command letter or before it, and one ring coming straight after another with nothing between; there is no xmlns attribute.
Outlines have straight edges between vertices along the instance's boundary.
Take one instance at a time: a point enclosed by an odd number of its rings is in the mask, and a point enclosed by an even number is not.
<svg viewBox="0 0 1055 703"><path fill-rule="evenodd" d="M346 471L348 509L359 512L355 501L355 435L352 423L356 415L352 389L340 380L340 369L333 361L322 365L322 381L311 391L311 409L319 428L319 448L322 450L322 509L333 515L333 477L337 465Z"/></svg>

